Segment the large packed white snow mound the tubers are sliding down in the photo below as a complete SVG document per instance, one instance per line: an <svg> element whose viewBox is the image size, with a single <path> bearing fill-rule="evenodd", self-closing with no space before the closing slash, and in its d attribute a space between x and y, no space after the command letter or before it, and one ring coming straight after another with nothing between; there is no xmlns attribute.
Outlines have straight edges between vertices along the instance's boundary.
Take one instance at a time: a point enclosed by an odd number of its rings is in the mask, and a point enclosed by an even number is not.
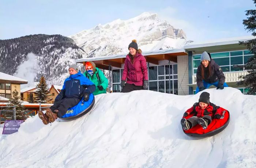
<svg viewBox="0 0 256 168"><path fill-rule="evenodd" d="M204 91L230 112L229 125L215 136L195 140L180 125L201 92L101 94L78 120L50 126L28 118L0 141L1 167L256 167L256 96L230 87Z"/></svg>

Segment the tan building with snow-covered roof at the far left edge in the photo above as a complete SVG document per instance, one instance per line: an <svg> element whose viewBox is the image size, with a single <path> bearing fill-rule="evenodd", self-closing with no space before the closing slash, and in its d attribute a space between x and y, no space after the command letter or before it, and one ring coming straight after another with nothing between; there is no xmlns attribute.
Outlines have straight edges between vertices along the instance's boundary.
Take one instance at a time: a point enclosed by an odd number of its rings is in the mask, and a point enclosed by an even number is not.
<svg viewBox="0 0 256 168"><path fill-rule="evenodd" d="M10 99L15 89L20 95L20 85L27 84L27 80L0 72L0 96Z"/></svg>

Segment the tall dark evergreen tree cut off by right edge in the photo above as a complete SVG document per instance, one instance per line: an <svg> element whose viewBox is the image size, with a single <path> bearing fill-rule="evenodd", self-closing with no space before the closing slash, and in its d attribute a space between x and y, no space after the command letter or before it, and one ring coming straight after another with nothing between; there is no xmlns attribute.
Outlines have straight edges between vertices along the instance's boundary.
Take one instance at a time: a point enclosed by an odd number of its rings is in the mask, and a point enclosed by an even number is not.
<svg viewBox="0 0 256 168"><path fill-rule="evenodd" d="M256 0L253 0L256 4ZM243 20L245 30L252 32L253 36L256 36L256 10L248 10L245 14L247 19ZM244 85L249 89L247 94L256 94L256 39L248 40L245 42L239 42L248 48L254 55L248 59L245 65L237 65L238 68L243 68L247 70L247 75L241 75L238 78L240 81L237 82L237 85Z"/></svg>

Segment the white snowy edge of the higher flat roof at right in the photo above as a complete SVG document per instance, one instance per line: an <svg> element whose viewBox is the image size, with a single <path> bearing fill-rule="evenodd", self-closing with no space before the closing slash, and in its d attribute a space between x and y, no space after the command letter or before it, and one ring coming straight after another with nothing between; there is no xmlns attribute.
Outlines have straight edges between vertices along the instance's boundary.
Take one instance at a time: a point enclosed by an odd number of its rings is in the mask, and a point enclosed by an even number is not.
<svg viewBox="0 0 256 168"><path fill-rule="evenodd" d="M199 48L199 47L209 47L209 46L221 46L227 44L238 44L240 41L246 41L255 39L255 36L240 36L233 38L223 38L215 39L206 42L192 42L184 46L184 49Z"/></svg>

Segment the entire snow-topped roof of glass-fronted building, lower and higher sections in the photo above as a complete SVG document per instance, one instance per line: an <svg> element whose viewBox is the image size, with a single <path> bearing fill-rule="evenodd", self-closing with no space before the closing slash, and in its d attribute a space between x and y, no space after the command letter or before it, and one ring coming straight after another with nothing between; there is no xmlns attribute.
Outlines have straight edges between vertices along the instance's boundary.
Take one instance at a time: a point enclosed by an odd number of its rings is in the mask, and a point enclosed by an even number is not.
<svg viewBox="0 0 256 168"><path fill-rule="evenodd" d="M180 55L188 55L189 51L193 51L194 54L202 54L202 51L216 52L218 50L239 50L245 49L245 46L241 46L238 43L240 41L246 41L254 39L254 36L242 36L242 37L234 37L234 38L226 38L226 39L218 39L211 40L208 42L193 42L189 43L185 46L179 48L172 48L166 50L154 50L154 51L146 51L143 52L142 55L146 57L147 62L158 65L159 60L170 60L173 62L177 62L177 56ZM77 63L85 63L87 61L93 61L95 65L101 69L109 69L109 66L122 68L122 64L125 61L125 57L128 54L121 53L117 55L106 55L106 56L98 56L93 58L81 58L76 59Z"/></svg>

